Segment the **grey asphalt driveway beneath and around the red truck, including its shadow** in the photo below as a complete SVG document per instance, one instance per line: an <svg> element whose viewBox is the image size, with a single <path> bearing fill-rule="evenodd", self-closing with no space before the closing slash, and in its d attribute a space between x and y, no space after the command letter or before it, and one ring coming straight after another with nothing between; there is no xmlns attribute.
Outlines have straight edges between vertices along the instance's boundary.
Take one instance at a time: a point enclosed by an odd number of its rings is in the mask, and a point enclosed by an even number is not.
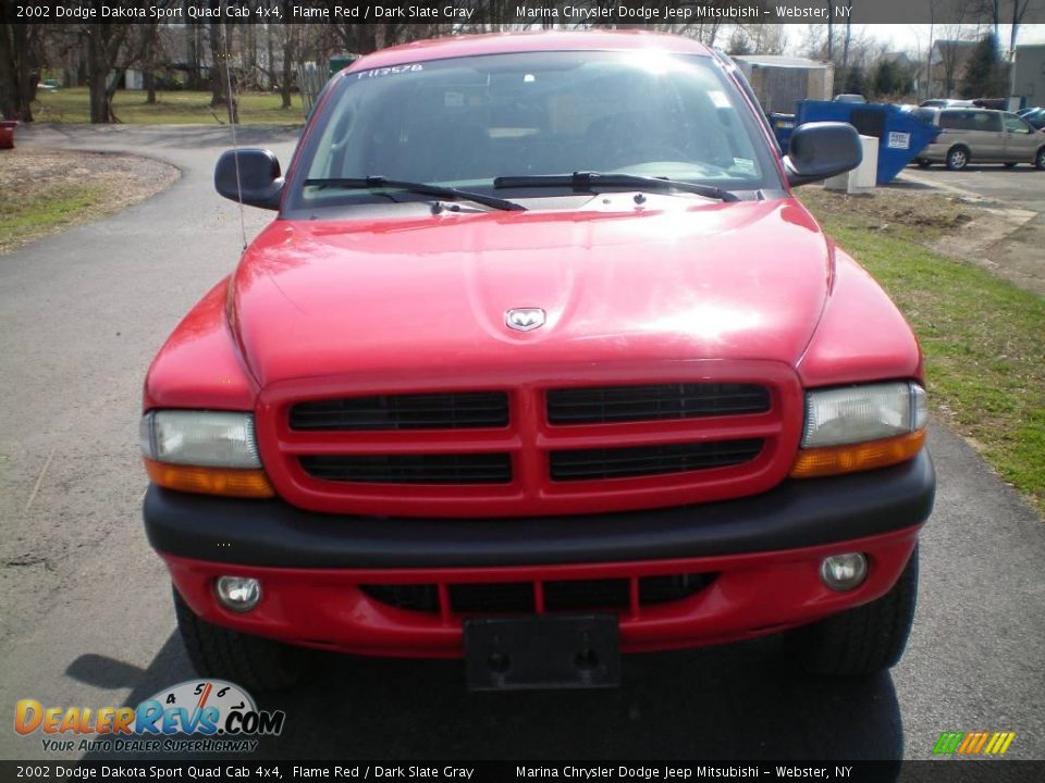
<svg viewBox="0 0 1045 783"><path fill-rule="evenodd" d="M193 676L142 532L137 422L148 362L238 256L236 209L211 184L228 132L33 128L17 142L153 156L184 174L0 257L0 709L136 705ZM241 142L285 163L294 138L246 128ZM270 216L248 210L248 234ZM931 444L937 507L890 674L811 680L771 638L629 659L616 691L490 695L465 693L456 662L320 656L314 684L261 699L287 724L260 753L920 759L943 731L987 730L1017 733L1008 757L1045 758L1045 527L960 438L937 426ZM38 736L2 725L0 756L44 756Z"/></svg>

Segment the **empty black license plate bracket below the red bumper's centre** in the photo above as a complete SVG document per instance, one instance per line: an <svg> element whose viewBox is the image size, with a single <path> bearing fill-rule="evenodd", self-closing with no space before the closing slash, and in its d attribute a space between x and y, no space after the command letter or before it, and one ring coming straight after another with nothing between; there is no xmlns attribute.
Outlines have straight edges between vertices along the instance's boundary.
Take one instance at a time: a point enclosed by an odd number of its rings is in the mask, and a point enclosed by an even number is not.
<svg viewBox="0 0 1045 783"><path fill-rule="evenodd" d="M612 614L466 620L465 672L472 691L614 687L620 643Z"/></svg>

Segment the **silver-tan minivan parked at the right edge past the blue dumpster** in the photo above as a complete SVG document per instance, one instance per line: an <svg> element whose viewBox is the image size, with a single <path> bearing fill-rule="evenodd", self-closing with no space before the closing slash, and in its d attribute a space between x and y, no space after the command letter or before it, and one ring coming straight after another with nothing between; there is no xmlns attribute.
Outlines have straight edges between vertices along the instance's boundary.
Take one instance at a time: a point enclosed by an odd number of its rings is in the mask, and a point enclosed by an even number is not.
<svg viewBox="0 0 1045 783"><path fill-rule="evenodd" d="M920 166L946 163L954 171L969 163L1032 163L1045 170L1045 133L1011 112L962 107L921 107L913 112L943 133L914 160Z"/></svg>

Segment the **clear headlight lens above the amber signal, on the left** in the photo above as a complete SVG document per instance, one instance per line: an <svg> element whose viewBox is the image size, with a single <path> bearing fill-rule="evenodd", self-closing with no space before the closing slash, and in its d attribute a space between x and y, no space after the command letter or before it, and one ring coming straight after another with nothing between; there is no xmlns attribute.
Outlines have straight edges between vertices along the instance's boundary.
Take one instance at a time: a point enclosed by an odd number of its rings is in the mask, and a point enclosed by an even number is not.
<svg viewBox="0 0 1045 783"><path fill-rule="evenodd" d="M260 468L249 413L153 411L142 419L142 453L157 462Z"/></svg>

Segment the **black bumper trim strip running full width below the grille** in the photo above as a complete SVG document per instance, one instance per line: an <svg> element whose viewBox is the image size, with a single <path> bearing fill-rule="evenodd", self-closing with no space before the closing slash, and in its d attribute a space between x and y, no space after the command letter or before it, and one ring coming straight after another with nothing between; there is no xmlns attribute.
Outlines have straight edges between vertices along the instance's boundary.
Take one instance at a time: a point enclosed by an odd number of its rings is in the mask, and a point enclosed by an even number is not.
<svg viewBox="0 0 1045 783"><path fill-rule="evenodd" d="M174 557L284 568L451 568L739 555L832 544L924 522L935 473L910 462L788 481L750 498L652 511L529 519L322 514L282 500L145 497L149 543Z"/></svg>

